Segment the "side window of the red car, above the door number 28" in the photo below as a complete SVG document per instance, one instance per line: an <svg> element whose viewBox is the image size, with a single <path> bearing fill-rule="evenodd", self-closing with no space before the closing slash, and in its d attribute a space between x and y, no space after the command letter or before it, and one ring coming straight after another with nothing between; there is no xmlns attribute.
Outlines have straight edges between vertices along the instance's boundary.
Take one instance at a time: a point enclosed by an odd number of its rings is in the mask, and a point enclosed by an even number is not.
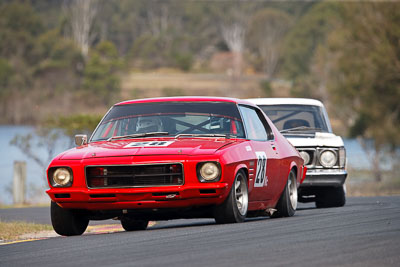
<svg viewBox="0 0 400 267"><path fill-rule="evenodd" d="M247 138L257 141L273 139L271 128L261 111L247 106L239 106L239 109L243 116Z"/></svg>

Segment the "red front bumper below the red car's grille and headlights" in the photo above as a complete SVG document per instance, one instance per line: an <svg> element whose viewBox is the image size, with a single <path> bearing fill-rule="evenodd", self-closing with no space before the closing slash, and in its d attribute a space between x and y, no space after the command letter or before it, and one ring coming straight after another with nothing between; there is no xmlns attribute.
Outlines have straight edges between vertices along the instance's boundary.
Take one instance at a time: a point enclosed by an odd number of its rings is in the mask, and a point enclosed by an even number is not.
<svg viewBox="0 0 400 267"><path fill-rule="evenodd" d="M66 209L114 210L183 208L221 204L228 183L150 188L51 188L50 198Z"/></svg>

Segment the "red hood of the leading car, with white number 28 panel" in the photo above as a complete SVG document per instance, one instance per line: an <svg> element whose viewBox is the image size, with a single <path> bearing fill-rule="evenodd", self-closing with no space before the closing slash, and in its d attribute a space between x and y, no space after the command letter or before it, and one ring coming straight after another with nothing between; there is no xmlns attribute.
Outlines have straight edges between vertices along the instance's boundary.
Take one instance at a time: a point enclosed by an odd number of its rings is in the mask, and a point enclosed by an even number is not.
<svg viewBox="0 0 400 267"><path fill-rule="evenodd" d="M225 138L134 139L93 142L72 148L59 159L87 159L102 157L147 155L210 155L236 142Z"/></svg>

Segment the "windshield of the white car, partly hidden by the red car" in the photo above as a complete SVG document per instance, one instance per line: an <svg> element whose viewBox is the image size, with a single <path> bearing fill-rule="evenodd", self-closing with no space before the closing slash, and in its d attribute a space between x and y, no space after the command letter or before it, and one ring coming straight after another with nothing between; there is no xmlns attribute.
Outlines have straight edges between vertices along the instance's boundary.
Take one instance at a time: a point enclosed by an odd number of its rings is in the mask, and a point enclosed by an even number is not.
<svg viewBox="0 0 400 267"><path fill-rule="evenodd" d="M278 130L294 132L331 132L324 110L311 105L260 105Z"/></svg>

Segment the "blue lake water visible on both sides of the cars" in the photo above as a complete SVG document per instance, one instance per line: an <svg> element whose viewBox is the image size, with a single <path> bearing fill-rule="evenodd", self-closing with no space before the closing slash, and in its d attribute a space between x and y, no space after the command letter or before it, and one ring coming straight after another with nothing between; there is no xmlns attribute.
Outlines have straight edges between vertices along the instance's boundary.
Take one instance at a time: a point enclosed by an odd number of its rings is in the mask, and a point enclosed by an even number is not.
<svg viewBox="0 0 400 267"><path fill-rule="evenodd" d="M12 195L9 189L12 188L14 161L26 161L27 198L30 199L31 202L48 201L48 197L44 192L47 183L45 182L46 178L43 169L32 159L27 157L19 148L10 145L10 141L17 134L27 135L29 133L34 133L33 127L7 125L0 126L0 203L12 203ZM72 137L61 138L55 146L55 155L68 149L72 143L71 139ZM356 169L369 169L368 160L358 142L354 139L345 139L344 143L347 150L348 166ZM47 158L47 152L42 147L33 146L32 150L42 159Z"/></svg>

